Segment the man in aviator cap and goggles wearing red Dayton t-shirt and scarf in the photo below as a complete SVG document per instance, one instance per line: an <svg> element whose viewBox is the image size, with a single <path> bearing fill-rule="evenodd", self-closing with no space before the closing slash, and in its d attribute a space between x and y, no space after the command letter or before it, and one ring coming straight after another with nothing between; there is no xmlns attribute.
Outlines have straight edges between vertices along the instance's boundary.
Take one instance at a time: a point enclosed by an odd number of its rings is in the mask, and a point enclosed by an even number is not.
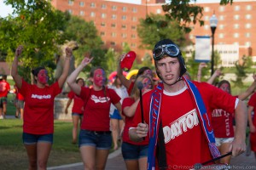
<svg viewBox="0 0 256 170"><path fill-rule="evenodd" d="M246 105L206 82L186 80L182 54L172 40L156 43L153 56L161 82L143 95L144 122L138 105L129 131L133 141L149 136L148 169L191 169L218 157L211 126L215 108L235 112L236 137L230 151L233 156L245 151Z"/></svg>

